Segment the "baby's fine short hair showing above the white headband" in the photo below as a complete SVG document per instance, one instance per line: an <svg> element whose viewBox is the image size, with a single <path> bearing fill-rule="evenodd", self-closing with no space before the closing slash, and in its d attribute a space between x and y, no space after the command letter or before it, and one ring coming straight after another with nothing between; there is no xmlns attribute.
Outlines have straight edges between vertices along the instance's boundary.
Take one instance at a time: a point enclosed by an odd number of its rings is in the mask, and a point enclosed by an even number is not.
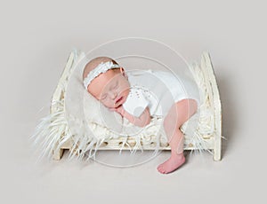
<svg viewBox="0 0 267 204"><path fill-rule="evenodd" d="M84 69L84 73L83 73L83 81L85 80L85 77L95 68L97 67L99 64L101 64L101 62L105 63L108 61L112 61L113 64L118 65L117 61L115 61L114 59L111 59L109 57L97 57L94 58L92 60L90 60L86 65L85 65L85 69ZM111 69L113 72L117 73L119 72L119 68L113 68Z"/></svg>

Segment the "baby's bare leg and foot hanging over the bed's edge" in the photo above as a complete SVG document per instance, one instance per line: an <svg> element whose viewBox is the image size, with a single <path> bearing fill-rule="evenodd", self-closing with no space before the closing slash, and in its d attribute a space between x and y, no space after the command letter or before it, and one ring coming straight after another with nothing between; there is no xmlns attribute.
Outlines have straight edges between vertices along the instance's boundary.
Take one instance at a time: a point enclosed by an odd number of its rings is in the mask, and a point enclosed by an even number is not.
<svg viewBox="0 0 267 204"><path fill-rule="evenodd" d="M193 99L183 99L172 106L164 120L164 129L169 145L171 146L171 157L158 166L160 173L166 174L178 169L185 161L183 155L184 136L181 126L197 112L198 104Z"/></svg>

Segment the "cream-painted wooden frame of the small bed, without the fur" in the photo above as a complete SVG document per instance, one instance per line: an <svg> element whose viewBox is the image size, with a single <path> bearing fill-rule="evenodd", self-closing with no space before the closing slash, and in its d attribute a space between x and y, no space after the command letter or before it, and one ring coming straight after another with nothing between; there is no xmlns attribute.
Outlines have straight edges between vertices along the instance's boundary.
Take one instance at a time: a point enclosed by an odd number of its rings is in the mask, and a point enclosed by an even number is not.
<svg viewBox="0 0 267 204"><path fill-rule="evenodd" d="M68 85L69 75L71 75L70 68L73 64L74 60L74 53L71 52L69 55L69 59L67 60L66 67L64 68L60 81L53 93L50 114L56 113L58 110L57 104L53 103L53 101L63 101L65 97L65 90L62 89L62 84L65 86ZM214 75L214 68L210 59L210 56L207 52L204 52L201 56L201 63L198 65L201 69L200 71L204 75L204 81L206 85L206 98L209 100L209 106L212 110L213 115L213 126L214 132L209 135L202 135L202 138L205 140L207 144L207 148L211 150L214 154L214 161L221 160L221 146L222 146L222 106L221 100L219 95L219 90L217 86L217 82ZM64 134L61 135L64 137ZM124 137L112 138L109 141L105 141L103 145L101 145L98 150L118 150L118 149L129 149L129 146L122 146L124 141ZM127 143L131 146L134 146L134 139L128 137ZM184 150L194 150L197 147L190 144L185 140L186 146ZM67 140L63 145L61 145L60 149L56 151L53 150L53 159L54 160L61 160L61 157L64 153L64 150L69 150L73 146L73 142L71 139ZM143 150L153 150L155 149L155 144L151 141L149 144L142 145ZM170 150L170 146L168 144L160 144L160 150Z"/></svg>

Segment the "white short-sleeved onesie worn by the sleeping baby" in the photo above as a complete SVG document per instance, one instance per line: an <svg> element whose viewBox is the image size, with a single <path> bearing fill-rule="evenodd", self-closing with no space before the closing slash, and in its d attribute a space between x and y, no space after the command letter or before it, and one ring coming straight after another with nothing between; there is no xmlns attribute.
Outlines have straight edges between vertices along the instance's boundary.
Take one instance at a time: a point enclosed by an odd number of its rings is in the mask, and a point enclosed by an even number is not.
<svg viewBox="0 0 267 204"><path fill-rule="evenodd" d="M165 116L175 102L185 98L195 99L199 106L198 86L190 78L150 69L126 74L131 87L123 107L135 117L147 106L150 115Z"/></svg>

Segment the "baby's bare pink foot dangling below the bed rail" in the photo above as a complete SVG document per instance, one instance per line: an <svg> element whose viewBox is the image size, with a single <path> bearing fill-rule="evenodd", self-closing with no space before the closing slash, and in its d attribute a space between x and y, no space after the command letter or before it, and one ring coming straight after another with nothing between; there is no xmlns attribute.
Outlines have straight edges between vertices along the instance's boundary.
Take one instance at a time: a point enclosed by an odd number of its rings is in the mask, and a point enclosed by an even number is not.
<svg viewBox="0 0 267 204"><path fill-rule="evenodd" d="M185 158L184 158L183 153L172 154L170 159L158 165L157 169L161 174L167 174L181 167L184 161L185 161Z"/></svg>

